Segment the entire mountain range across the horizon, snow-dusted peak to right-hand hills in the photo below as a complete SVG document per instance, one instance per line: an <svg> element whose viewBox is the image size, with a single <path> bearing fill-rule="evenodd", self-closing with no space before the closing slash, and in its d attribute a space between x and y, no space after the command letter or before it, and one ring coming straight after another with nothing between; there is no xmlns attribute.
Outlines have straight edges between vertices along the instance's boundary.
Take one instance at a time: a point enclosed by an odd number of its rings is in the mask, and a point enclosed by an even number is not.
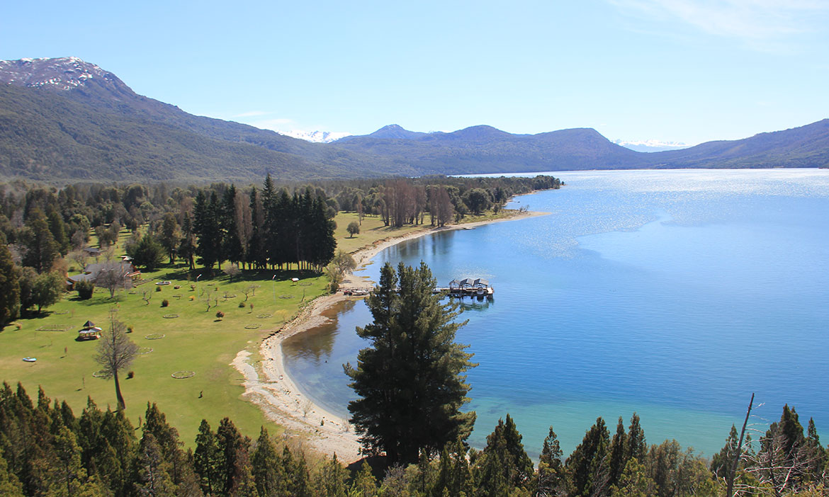
<svg viewBox="0 0 829 497"><path fill-rule="evenodd" d="M584 169L829 166L829 119L734 141L635 152L592 128L532 135L395 124L308 142L195 116L75 57L0 61L0 177L36 181L260 181ZM328 141L333 137L319 135Z"/></svg>

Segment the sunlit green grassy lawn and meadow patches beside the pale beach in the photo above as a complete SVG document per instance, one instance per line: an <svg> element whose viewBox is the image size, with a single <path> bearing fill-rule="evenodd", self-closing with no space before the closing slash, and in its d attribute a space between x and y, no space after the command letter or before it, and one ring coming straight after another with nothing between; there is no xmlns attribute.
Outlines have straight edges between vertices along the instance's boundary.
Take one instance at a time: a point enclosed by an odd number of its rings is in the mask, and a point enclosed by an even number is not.
<svg viewBox="0 0 829 497"><path fill-rule="evenodd" d="M510 215L511 211L502 211L498 215L467 216L463 221ZM428 219L426 224L395 229L383 226L378 216L366 216L361 233L351 238L346 227L352 220L357 220L355 213L341 213L336 218L337 246L347 252L381 239L429 229ZM124 253L123 244L128 238L129 233L122 231L116 254ZM196 282L199 274L202 276ZM32 397L41 385L46 395L65 400L78 415L87 397L100 407L114 408L113 381L93 376L99 370L93 359L98 342L78 342L75 337L87 320L106 329L109 310L116 309L119 321L133 328L129 335L132 340L145 352L152 349L139 355L128 368L135 373L133 379L126 379L126 374L121 377L126 413L135 426L147 403L155 402L190 446L194 445L202 418L215 428L222 417L230 417L250 437L258 434L261 425L279 432L279 427L269 422L259 408L241 397L241 375L230 362L240 350L249 350L252 360L258 360L261 340L279 330L304 303L322 295L326 280L308 272L275 274L272 281L273 271L245 272L230 282L221 272L216 271L211 277L203 269L188 272L183 263L177 263L143 273L146 282L117 292L112 299L102 288L96 288L88 301L78 300L76 292L67 293L41 315L18 320L21 329L10 325L0 331L0 379L12 386L21 382ZM292 277L300 281L291 282ZM171 284L155 285L163 280ZM245 301L243 291L251 285L258 287ZM145 291L150 296L149 303L143 300ZM206 293L218 299L218 306L211 306L209 311L204 302ZM164 299L169 306L161 306ZM239 306L240 302L245 302L244 308ZM254 305L252 310L250 304ZM224 312L224 318L216 319L216 311ZM159 334L163 338L147 338ZM29 356L36 357L36 363L22 361ZM194 371L196 375L173 379L171 374L177 371Z"/></svg>

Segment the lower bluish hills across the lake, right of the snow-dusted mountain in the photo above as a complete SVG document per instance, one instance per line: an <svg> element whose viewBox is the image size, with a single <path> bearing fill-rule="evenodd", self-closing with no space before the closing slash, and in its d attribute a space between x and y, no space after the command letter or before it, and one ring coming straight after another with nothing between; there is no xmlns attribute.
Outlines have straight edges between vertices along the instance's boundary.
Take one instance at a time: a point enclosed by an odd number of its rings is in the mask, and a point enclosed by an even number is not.
<svg viewBox="0 0 829 497"><path fill-rule="evenodd" d="M610 142L593 128L511 134L491 126L453 133L414 133L393 126L395 138L385 138L388 133L384 130L390 128L386 126L332 145L378 157L409 157L412 166L447 174L462 174L471 163L482 173L829 166L829 119L740 140L661 152L631 150Z"/></svg>

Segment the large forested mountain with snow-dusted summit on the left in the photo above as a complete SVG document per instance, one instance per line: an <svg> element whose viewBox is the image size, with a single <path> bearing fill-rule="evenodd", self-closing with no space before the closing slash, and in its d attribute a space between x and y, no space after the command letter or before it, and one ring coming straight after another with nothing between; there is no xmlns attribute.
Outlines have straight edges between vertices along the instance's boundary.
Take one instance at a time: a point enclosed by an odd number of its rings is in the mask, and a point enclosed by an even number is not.
<svg viewBox="0 0 829 497"><path fill-rule="evenodd" d="M405 164L186 113L75 57L0 62L0 176L259 181L415 174Z"/></svg>

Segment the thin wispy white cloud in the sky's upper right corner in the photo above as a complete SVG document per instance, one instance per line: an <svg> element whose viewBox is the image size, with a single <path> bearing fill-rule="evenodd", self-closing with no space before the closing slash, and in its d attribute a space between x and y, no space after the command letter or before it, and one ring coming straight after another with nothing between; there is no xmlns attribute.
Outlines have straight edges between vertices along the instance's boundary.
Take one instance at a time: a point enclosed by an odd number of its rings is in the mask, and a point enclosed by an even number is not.
<svg viewBox="0 0 829 497"><path fill-rule="evenodd" d="M825 29L825 0L608 0L622 12L657 22L679 21L755 47Z"/></svg>

